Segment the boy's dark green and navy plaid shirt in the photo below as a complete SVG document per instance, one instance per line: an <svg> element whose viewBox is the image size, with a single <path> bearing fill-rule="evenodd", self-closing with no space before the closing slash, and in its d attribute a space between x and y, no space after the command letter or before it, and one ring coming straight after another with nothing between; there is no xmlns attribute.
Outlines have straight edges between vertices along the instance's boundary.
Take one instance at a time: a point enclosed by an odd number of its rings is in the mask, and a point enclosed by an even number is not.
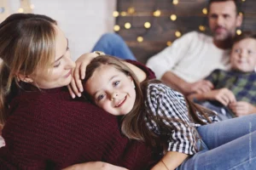
<svg viewBox="0 0 256 170"><path fill-rule="evenodd" d="M240 71L215 70L206 77L212 82L215 89L229 88L236 96L237 101L246 101L256 105L256 73Z"/></svg>

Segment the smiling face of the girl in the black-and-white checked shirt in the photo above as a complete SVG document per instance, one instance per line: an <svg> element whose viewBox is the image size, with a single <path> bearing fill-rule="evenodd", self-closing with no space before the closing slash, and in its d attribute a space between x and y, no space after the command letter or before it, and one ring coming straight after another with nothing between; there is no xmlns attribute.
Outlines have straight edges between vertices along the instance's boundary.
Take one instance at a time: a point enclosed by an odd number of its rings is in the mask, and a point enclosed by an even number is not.
<svg viewBox="0 0 256 170"><path fill-rule="evenodd" d="M84 88L96 105L115 116L129 113L135 103L132 78L111 65L97 68Z"/></svg>

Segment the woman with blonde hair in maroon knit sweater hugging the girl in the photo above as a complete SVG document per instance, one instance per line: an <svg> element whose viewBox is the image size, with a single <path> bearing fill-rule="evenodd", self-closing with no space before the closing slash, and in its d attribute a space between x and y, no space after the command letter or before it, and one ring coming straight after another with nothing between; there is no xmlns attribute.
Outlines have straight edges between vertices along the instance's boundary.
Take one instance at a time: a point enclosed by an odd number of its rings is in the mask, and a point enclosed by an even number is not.
<svg viewBox="0 0 256 170"><path fill-rule="evenodd" d="M88 161L143 169L154 163L148 147L120 134L116 117L70 98L66 86L75 63L55 20L38 14L9 16L0 25L0 57L6 143L0 149L0 169L60 169ZM85 165L120 168L102 162Z"/></svg>

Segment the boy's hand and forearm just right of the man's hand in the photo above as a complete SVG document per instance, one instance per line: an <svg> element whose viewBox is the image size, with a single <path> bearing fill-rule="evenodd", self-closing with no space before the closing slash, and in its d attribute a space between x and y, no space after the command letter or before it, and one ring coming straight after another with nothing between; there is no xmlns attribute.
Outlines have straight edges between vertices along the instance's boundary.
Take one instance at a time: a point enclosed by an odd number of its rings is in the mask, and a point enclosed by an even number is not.
<svg viewBox="0 0 256 170"><path fill-rule="evenodd" d="M235 95L228 88L212 90L202 95L204 95L204 99L217 100L225 106L229 105L232 102L236 102Z"/></svg>

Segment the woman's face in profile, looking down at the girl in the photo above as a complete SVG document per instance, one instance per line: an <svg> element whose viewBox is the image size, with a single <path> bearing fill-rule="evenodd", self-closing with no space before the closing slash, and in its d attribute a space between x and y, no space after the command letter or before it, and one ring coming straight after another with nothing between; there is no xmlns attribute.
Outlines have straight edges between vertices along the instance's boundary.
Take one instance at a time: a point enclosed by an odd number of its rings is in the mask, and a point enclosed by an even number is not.
<svg viewBox="0 0 256 170"><path fill-rule="evenodd" d="M75 63L70 58L68 40L58 26L55 26L55 33L55 61L48 71L39 69L30 77L38 88L60 88L72 80Z"/></svg>

